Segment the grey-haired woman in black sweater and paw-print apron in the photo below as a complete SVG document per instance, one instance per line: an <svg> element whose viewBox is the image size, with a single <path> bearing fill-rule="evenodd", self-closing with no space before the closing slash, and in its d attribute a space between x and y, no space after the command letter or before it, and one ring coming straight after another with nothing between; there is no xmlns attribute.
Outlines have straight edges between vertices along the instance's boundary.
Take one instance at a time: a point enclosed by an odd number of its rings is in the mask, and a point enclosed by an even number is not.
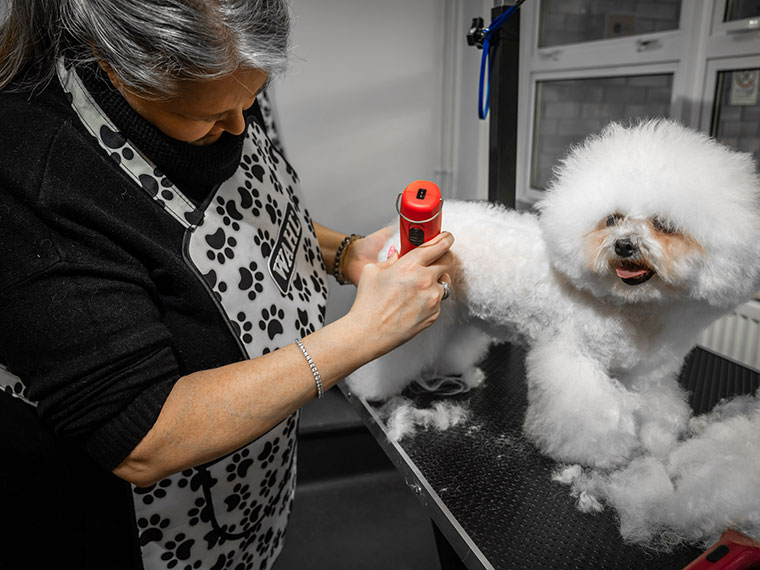
<svg viewBox="0 0 760 570"><path fill-rule="evenodd" d="M437 317L449 234L375 264L387 232L312 225L259 97L288 29L276 0L11 3L0 556L19 567L269 568L298 408ZM322 328L326 271L358 290Z"/></svg>

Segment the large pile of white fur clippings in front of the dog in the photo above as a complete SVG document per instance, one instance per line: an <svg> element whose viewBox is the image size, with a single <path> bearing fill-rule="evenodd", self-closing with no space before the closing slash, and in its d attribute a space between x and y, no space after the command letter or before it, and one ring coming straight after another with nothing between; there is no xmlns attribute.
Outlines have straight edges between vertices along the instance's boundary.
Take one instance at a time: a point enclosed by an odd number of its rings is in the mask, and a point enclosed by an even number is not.
<svg viewBox="0 0 760 570"><path fill-rule="evenodd" d="M559 469L578 508L614 508L629 542L659 550L714 543L726 528L760 538L760 394L721 402L689 425L665 457L644 455L613 471Z"/></svg>

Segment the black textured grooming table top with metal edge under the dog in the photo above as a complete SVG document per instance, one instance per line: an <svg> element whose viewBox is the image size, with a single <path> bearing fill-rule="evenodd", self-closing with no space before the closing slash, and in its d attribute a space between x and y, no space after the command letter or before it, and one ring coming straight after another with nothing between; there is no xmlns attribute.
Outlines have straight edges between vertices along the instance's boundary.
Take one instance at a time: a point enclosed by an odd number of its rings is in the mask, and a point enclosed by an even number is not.
<svg viewBox="0 0 760 570"><path fill-rule="evenodd" d="M444 562L444 568L680 570L699 556L701 548L662 554L625 544L614 510L586 514L576 508L570 487L551 480L557 464L522 435L524 360L518 347L493 347L481 366L484 385L446 398L466 405L470 419L398 443L388 440L377 409L341 385L462 561ZM760 373L696 348L681 382L699 414L722 397L752 393ZM435 400L409 397L418 407Z"/></svg>

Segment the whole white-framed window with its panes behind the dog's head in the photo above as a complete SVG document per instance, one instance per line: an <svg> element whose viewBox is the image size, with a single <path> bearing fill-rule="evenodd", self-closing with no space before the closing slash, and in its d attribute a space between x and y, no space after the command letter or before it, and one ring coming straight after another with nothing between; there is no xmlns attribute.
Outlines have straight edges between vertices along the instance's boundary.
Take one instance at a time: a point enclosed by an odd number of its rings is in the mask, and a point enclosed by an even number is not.
<svg viewBox="0 0 760 570"><path fill-rule="evenodd" d="M760 158L760 2L527 0L517 199L611 120L671 117Z"/></svg>

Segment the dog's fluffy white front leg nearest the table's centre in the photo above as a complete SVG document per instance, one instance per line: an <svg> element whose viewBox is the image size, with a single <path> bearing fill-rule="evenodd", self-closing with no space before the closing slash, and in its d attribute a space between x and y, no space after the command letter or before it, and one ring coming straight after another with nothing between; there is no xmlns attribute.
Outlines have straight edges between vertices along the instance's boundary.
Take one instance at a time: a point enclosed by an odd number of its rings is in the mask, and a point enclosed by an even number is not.
<svg viewBox="0 0 760 570"><path fill-rule="evenodd" d="M639 447L639 398L581 353L570 335L528 353L524 429L542 452L571 463L614 467Z"/></svg>

